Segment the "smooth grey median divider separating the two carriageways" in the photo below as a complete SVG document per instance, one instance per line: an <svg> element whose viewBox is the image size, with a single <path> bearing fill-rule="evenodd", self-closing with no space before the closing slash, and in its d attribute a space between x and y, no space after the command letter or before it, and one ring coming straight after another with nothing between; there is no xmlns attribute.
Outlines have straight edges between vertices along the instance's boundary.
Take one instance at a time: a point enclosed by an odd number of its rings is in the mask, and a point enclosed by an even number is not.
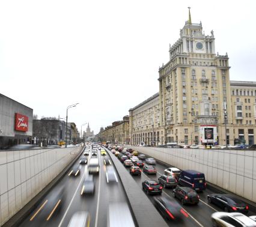
<svg viewBox="0 0 256 227"><path fill-rule="evenodd" d="M150 199L148 199L142 191L142 188L136 184L135 180L127 172L120 160L118 160L111 151L108 149L105 150L108 152L112 159L112 163L114 163L115 168L117 169L117 173L121 179L121 183L123 184L130 207L132 208L133 216L136 219L136 224L139 227L167 227L168 225L165 220L163 220L163 217L160 216Z"/></svg>

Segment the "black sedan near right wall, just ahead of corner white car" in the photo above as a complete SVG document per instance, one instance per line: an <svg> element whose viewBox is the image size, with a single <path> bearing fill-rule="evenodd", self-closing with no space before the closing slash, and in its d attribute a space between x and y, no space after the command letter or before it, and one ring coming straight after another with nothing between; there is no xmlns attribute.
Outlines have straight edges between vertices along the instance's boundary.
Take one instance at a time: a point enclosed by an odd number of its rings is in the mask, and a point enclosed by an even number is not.
<svg viewBox="0 0 256 227"><path fill-rule="evenodd" d="M249 206L233 195L209 194L207 199L210 203L221 207L225 212L248 213L249 211Z"/></svg>

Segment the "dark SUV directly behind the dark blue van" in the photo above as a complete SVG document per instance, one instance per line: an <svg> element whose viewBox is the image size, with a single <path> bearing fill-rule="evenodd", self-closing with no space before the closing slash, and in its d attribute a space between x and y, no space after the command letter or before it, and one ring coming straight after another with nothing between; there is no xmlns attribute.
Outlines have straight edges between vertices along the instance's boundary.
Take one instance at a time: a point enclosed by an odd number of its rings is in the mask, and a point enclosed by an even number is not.
<svg viewBox="0 0 256 227"><path fill-rule="evenodd" d="M174 198L181 200L181 203L184 204L198 204L199 196L194 189L190 187L175 187L172 190L172 195Z"/></svg>

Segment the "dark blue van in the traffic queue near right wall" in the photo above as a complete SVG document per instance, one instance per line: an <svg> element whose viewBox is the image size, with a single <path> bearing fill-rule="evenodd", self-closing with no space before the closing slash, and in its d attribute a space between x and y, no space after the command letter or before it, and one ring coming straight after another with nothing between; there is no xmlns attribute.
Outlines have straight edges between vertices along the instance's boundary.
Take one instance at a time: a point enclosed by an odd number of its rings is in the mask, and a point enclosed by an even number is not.
<svg viewBox="0 0 256 227"><path fill-rule="evenodd" d="M206 178L203 173L189 169L181 171L178 184L184 187L191 187L196 191L202 191L206 189Z"/></svg>

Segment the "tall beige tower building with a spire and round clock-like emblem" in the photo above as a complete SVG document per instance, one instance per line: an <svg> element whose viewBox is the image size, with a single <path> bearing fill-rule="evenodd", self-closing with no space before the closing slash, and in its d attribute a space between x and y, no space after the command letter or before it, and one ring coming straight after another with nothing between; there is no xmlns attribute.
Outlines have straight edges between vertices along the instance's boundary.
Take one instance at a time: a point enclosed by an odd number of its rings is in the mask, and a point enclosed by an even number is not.
<svg viewBox="0 0 256 227"><path fill-rule="evenodd" d="M166 142L225 144L225 127L232 124L229 69L227 53L215 53L213 31L205 35L201 22L192 23L189 8L180 38L170 44L169 61L159 68L160 126ZM224 109L230 113L227 120Z"/></svg>

